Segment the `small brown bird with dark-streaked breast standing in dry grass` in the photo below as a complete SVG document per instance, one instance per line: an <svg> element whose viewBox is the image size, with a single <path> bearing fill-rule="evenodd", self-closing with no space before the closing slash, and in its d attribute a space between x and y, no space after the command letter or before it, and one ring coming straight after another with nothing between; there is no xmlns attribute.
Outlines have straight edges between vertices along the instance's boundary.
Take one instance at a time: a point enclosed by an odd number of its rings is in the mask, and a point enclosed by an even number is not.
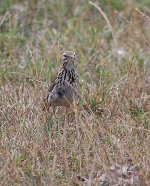
<svg viewBox="0 0 150 186"><path fill-rule="evenodd" d="M54 115L57 107L62 106L68 109L78 97L79 77L75 69L76 53L65 51L61 56L61 61L61 67L44 99L46 110L52 107Z"/></svg>

